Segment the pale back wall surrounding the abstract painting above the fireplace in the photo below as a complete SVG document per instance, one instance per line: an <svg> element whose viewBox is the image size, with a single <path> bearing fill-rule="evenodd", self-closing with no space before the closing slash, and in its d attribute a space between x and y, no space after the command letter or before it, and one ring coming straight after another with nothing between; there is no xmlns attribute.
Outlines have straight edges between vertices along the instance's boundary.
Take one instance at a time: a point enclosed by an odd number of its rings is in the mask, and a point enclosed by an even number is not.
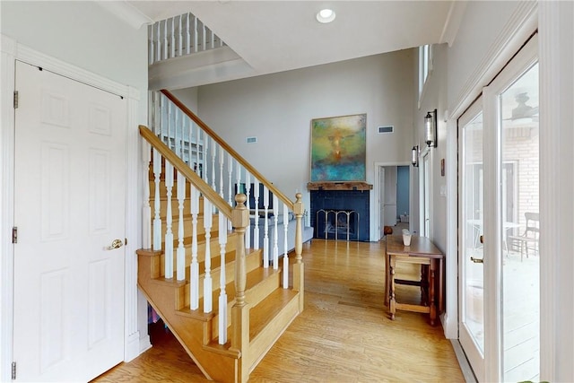
<svg viewBox="0 0 574 383"><path fill-rule="evenodd" d="M309 207L312 118L367 113L367 182L375 162L410 160L413 50L199 87L198 115L257 170ZM395 126L379 135L378 126ZM246 144L247 136L257 144ZM281 171L277 171L280 169ZM378 227L371 192L371 239ZM376 232L375 232L376 235ZM376 239L374 239L376 240Z"/></svg>

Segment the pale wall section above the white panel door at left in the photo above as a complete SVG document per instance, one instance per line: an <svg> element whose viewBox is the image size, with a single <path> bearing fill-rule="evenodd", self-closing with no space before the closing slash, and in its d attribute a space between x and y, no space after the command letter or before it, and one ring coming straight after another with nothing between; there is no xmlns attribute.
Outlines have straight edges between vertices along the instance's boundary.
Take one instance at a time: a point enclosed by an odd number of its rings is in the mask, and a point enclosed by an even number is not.
<svg viewBox="0 0 574 383"><path fill-rule="evenodd" d="M147 96L147 29L135 30L82 1L3 1L2 33L17 42ZM146 103L141 103L143 122Z"/></svg>

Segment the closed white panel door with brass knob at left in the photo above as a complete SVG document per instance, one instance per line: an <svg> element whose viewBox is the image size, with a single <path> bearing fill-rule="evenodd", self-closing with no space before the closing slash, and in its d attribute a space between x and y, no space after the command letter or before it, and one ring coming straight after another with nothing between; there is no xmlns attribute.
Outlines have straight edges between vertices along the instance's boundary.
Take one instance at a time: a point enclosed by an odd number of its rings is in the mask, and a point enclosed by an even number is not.
<svg viewBox="0 0 574 383"><path fill-rule="evenodd" d="M86 381L124 355L126 100L20 62L16 90L16 380Z"/></svg>

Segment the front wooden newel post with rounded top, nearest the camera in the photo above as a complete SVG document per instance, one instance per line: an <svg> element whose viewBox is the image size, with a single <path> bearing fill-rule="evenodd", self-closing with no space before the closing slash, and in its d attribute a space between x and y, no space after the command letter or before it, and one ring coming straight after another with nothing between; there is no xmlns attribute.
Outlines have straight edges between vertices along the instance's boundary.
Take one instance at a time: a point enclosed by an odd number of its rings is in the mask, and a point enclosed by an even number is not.
<svg viewBox="0 0 574 383"><path fill-rule="evenodd" d="M231 224L237 236L235 255L235 304L231 308L231 348L240 352L239 376L241 382L247 382L249 377L248 347L249 347L249 309L245 301L245 286L247 273L245 263L245 231L249 225L249 212L245 206L247 196L238 194L235 196L237 205L231 213Z"/></svg>

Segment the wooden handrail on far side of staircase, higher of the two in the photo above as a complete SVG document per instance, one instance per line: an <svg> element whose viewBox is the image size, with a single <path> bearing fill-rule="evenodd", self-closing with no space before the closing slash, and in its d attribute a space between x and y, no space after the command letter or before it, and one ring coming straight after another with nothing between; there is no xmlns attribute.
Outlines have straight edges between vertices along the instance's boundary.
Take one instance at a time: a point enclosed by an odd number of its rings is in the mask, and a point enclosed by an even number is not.
<svg viewBox="0 0 574 383"><path fill-rule="evenodd" d="M229 144L227 144L225 141L223 141L219 135L217 135L215 132L213 132L213 130L209 126L207 126L204 123L204 121L201 120L201 118L198 118L194 112L189 110L180 100L178 100L178 98L176 96L171 94L170 91L166 91L166 90L162 89L161 93L163 93L168 99L170 99L171 102L176 104L178 106L178 108L181 109L181 111L183 111L187 115L188 118L191 118L192 120L194 120L194 122L198 126L201 126L201 128L204 130L204 132L207 135L210 135L213 138L213 140L215 140L215 142L217 144L220 144L222 146L222 148L225 149L225 151L229 152L231 154L231 156L233 158L235 158L235 160L239 161L239 163L245 169L247 169L249 171L249 173L251 173L257 179L259 179L259 181L262 184L264 184L265 187L267 187L269 190L271 190L271 192L274 194L274 196L277 196L277 198L282 200L283 203L285 205L287 205L289 210L291 210L291 211L293 210L293 202L291 201L291 199L289 199L287 196L285 196L281 192L281 190L279 190L277 187L274 186L273 183L271 183L271 181L269 181L267 178L265 178L263 176L263 174L259 173L259 171L257 171L253 166L251 166L251 164L247 160L245 160L243 157L241 157L238 152L235 152L235 150L233 150L233 148L231 148Z"/></svg>

